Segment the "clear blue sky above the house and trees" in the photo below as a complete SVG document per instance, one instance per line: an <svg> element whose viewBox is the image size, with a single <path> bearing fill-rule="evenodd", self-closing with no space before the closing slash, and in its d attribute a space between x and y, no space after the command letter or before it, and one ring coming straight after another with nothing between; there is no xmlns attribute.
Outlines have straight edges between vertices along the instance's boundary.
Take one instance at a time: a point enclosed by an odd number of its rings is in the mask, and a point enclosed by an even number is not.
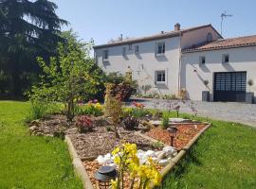
<svg viewBox="0 0 256 189"><path fill-rule="evenodd" d="M94 39L96 44L111 38L141 37L181 28L211 24L220 31L224 20L225 38L256 34L255 0L52 0L58 15L70 23L80 38ZM66 29L66 27L65 27Z"/></svg>

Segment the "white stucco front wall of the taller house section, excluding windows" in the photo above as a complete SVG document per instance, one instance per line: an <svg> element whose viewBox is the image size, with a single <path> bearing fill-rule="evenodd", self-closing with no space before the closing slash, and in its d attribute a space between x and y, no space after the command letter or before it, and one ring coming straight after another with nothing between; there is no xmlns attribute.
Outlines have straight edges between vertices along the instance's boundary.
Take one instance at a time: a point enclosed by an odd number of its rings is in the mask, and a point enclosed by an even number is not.
<svg viewBox="0 0 256 189"><path fill-rule="evenodd" d="M165 43L164 56L155 57L155 45ZM135 46L139 46L139 53L136 55ZM126 57L122 56L122 49L126 47ZM95 50L98 65L106 72L119 72L124 74L128 71L128 66L133 70L133 78L137 80L139 86L150 84L152 91L159 94L178 93L178 68L180 55L180 38L168 38L144 43L132 43L132 50L128 50L127 45L118 45ZM108 50L109 59L102 61L104 50ZM155 84L155 71L166 70L167 81L165 85Z"/></svg>

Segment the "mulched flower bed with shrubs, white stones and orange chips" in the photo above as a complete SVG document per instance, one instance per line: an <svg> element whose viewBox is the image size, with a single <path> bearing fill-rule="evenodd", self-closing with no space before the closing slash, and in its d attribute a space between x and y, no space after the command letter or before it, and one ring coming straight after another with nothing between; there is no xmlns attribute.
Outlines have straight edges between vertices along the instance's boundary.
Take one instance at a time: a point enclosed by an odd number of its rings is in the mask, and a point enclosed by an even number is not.
<svg viewBox="0 0 256 189"><path fill-rule="evenodd" d="M133 154L137 159L138 169L135 170L139 170L139 167L143 169L151 162L154 165L148 167L149 171L152 170L152 173L157 172L159 175L170 170L168 167L172 161L176 161L176 157L182 157L184 146L191 146L198 133L208 125L188 119L170 118L169 114L162 112L153 115L140 103L134 103L135 109L122 110L119 101L111 97L109 99L104 107L108 111L104 112L104 115L100 103L89 102L85 105L79 104L72 121L68 121L64 114L49 114L46 118L35 120L29 125L30 133L33 135L61 138L67 135L68 143L72 144L76 157L84 166L83 171L87 172L86 180L90 180L94 188L99 188L95 173L101 166L114 166L120 171L119 163L116 162L117 154L113 153L114 148L117 149L123 144L136 146ZM168 130L170 127L177 129L174 146L171 146L171 135ZM131 184L127 171L128 169L123 173L124 188L130 188ZM137 179L141 181L138 175ZM152 176L149 180L155 180L154 178L155 176ZM159 184L159 180L156 180Z"/></svg>

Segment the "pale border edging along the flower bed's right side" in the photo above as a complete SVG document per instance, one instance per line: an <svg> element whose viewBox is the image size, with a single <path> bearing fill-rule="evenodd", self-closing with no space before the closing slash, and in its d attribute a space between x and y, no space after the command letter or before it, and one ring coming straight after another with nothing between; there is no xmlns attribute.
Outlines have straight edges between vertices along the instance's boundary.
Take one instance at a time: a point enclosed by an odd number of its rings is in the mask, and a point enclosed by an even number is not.
<svg viewBox="0 0 256 189"><path fill-rule="evenodd" d="M210 128L210 123L204 128L201 129L190 141L190 143L187 146L184 146L178 154L174 157L174 159L171 161L171 163L168 163L161 171L161 177L164 178L168 173L172 171L176 163L180 161L181 158L187 153L188 149L198 140L198 138L207 130ZM151 183L150 188L155 188L155 185Z"/></svg>

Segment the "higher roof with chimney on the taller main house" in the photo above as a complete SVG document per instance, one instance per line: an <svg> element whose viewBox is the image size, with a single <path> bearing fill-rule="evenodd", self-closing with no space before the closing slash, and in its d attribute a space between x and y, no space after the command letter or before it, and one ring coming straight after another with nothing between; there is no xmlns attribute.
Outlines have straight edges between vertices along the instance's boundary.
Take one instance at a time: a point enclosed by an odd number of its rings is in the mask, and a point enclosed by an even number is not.
<svg viewBox="0 0 256 189"><path fill-rule="evenodd" d="M118 41L118 42L95 45L94 48L97 49L97 48L110 47L110 46L116 46L116 45L122 45L122 44L141 43L141 42L148 42L148 41L152 41L152 40L166 39L166 38L176 37L176 36L182 35L183 33L190 32L192 30L196 30L196 29L200 29L200 28L204 28L204 27L208 27L208 26L212 27L212 29L215 30L215 28L211 25L194 26L194 27L190 27L190 28L186 28L186 29L180 29L180 30L176 30L176 31L175 30L165 31L165 32L161 32L159 34L155 34L155 35L152 35L152 36L146 36L146 37L141 37L141 38L133 38L133 39L123 39L122 41ZM222 38L222 36L220 34L219 34L219 36Z"/></svg>

